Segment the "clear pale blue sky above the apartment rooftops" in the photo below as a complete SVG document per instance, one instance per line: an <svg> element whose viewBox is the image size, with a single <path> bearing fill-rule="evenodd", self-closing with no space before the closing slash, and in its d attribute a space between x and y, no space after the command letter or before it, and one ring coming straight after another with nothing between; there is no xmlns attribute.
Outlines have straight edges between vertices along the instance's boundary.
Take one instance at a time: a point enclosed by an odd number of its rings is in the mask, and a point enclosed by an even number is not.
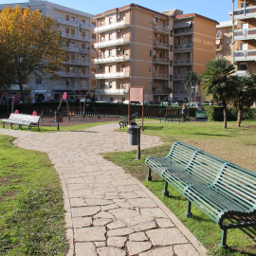
<svg viewBox="0 0 256 256"><path fill-rule="evenodd" d="M24 2L28 2L28 0L0 0L0 4ZM130 2L129 0L97 0L95 2L84 0L50 0L48 2L67 8L79 9L94 15L108 9L120 8L135 3L158 12L168 9L180 9L183 10L184 14L194 12L217 22L229 21L229 12L232 11L232 0L137 0L136 2ZM90 2L90 4L88 2ZM236 8L237 0L235 0L235 9Z"/></svg>

